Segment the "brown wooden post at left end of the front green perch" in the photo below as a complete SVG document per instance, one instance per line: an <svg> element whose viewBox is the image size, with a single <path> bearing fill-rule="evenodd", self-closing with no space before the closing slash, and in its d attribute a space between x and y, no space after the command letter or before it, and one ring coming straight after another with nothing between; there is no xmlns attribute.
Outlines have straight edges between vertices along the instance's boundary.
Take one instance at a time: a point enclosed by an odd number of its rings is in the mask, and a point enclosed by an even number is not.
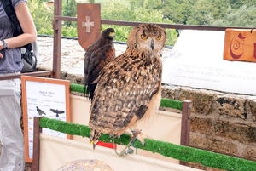
<svg viewBox="0 0 256 171"><path fill-rule="evenodd" d="M41 118L41 116L34 117L32 171L39 171L39 163L40 163L40 133L42 133L42 128L39 125L40 118Z"/></svg>

